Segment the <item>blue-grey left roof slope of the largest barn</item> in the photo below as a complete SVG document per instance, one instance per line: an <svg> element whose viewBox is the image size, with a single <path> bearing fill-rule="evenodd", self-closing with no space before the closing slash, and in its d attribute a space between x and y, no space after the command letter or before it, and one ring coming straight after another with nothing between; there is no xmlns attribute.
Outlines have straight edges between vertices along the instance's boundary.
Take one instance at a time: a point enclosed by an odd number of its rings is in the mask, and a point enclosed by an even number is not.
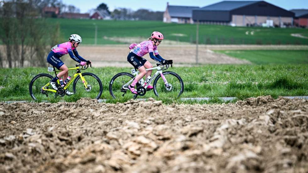
<svg viewBox="0 0 308 173"><path fill-rule="evenodd" d="M245 7L247 5L260 2L260 1L222 1L219 3L214 3L212 5L208 5L200 8L201 10L233 10L240 7Z"/></svg>

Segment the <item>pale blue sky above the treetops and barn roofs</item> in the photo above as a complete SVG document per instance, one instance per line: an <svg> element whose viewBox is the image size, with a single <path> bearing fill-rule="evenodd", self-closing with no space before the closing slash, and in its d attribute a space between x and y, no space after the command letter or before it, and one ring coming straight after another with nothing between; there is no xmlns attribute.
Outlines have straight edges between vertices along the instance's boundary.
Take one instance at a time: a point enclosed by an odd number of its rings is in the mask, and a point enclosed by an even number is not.
<svg viewBox="0 0 308 173"><path fill-rule="evenodd" d="M100 3L106 3L110 11L115 8L130 8L134 11L140 8L151 9L152 11L165 11L167 2L169 5L199 6L204 7L220 0L63 0L67 5L74 5L80 9L81 13L86 13L90 9L96 8ZM278 7L290 9L308 9L308 0L266 0Z"/></svg>

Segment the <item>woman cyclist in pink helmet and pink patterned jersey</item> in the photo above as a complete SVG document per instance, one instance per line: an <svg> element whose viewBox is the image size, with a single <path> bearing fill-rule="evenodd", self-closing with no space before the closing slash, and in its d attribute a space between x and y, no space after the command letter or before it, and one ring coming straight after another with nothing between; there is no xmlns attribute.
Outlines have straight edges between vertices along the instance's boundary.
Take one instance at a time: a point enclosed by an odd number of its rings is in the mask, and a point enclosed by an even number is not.
<svg viewBox="0 0 308 173"><path fill-rule="evenodd" d="M138 69L138 71L140 72L135 77L132 84L128 86L128 88L133 94L137 94L135 90L135 85L138 83L138 81L141 78L143 78L145 75L146 75L146 78L148 76L151 76L151 73L152 73L152 70L146 71L146 68L152 68L153 66L149 61L143 58L144 55L149 53L150 57L153 60L160 62L162 64L172 64L173 63L172 60L165 60L158 54L157 46L160 45L163 39L164 39L164 36L162 35L162 33L154 31L152 32L151 37L149 37L147 41L142 41L139 44L131 44L129 46L130 52L127 56L127 61L131 65L133 65L135 69ZM146 83L144 85L146 85ZM153 86L148 85L147 88L153 89Z"/></svg>

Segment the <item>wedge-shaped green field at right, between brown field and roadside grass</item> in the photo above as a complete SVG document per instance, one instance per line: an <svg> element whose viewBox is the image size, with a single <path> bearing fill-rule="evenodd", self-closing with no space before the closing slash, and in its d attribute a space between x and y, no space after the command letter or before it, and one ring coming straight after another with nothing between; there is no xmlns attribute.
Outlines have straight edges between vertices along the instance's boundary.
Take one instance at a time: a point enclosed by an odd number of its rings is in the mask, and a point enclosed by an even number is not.
<svg viewBox="0 0 308 173"><path fill-rule="evenodd" d="M216 51L254 64L308 64L308 51Z"/></svg>

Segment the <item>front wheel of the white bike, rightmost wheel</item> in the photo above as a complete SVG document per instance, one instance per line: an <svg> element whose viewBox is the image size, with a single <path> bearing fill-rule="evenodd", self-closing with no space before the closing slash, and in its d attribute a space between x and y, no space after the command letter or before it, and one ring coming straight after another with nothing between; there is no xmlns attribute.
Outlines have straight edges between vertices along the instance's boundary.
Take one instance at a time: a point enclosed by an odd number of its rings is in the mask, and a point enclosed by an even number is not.
<svg viewBox="0 0 308 173"><path fill-rule="evenodd" d="M162 75L158 75L153 83L153 91L154 94L159 97L160 95L166 97L179 97L184 91L184 83L182 78L174 72L162 72L163 76L166 79L167 84L165 84L165 80L162 78Z"/></svg>

